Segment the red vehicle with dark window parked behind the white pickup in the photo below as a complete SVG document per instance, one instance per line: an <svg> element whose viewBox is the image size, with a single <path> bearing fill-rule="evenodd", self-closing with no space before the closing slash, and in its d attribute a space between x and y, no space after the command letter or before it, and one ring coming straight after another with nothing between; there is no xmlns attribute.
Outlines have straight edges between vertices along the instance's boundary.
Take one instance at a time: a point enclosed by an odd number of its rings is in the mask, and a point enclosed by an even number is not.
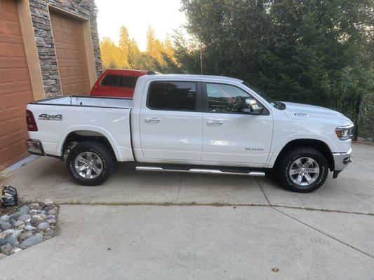
<svg viewBox="0 0 374 280"><path fill-rule="evenodd" d="M136 81L140 76L157 72L128 69L105 70L91 90L91 96L133 98Z"/></svg>

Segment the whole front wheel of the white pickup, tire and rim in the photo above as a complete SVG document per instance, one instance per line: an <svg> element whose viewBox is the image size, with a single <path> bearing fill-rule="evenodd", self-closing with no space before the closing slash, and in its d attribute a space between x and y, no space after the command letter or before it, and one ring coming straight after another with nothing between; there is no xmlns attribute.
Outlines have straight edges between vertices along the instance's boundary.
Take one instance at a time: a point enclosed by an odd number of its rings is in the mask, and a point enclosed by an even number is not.
<svg viewBox="0 0 374 280"><path fill-rule="evenodd" d="M279 179L287 190L311 193L326 181L328 162L314 148L294 148L281 160L278 172Z"/></svg>

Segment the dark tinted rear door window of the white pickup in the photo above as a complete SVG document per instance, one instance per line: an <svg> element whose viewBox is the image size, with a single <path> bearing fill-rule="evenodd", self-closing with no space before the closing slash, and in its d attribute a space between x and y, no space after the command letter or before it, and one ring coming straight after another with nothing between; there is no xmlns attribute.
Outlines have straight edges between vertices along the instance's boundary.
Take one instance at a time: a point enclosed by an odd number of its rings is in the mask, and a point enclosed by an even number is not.
<svg viewBox="0 0 374 280"><path fill-rule="evenodd" d="M154 110L196 111L195 82L152 82L147 106Z"/></svg>

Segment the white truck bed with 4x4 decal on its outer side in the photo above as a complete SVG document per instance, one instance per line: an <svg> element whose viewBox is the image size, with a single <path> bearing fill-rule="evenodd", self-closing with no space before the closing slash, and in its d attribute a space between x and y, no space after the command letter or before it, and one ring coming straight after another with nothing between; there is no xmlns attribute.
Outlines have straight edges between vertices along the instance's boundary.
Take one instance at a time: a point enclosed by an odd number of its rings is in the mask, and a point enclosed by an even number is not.
<svg viewBox="0 0 374 280"><path fill-rule="evenodd" d="M46 155L62 156L69 134L105 137L119 161L132 161L130 111L132 99L68 96L30 102L37 131L29 138L40 140Z"/></svg>

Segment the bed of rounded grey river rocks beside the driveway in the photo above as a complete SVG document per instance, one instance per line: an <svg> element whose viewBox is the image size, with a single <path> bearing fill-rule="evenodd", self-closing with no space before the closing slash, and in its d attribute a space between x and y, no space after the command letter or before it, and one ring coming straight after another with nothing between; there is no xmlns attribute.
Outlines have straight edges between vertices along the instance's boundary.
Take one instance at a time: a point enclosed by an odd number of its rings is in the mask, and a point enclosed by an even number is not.
<svg viewBox="0 0 374 280"><path fill-rule="evenodd" d="M55 235L58 206L51 200L23 205L0 216L0 260Z"/></svg>

